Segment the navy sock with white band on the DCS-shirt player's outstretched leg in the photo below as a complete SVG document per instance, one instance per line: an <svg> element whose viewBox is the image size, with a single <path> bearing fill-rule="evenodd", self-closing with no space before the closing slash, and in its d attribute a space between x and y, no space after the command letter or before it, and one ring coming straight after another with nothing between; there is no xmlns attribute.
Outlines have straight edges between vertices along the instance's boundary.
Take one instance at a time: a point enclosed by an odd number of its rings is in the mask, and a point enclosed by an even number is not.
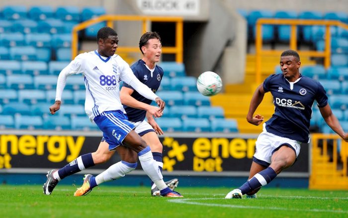
<svg viewBox="0 0 348 218"><path fill-rule="evenodd" d="M275 173L275 171L272 168L268 167L268 168L262 170L261 172L255 174L255 176L253 178L248 180L246 183L244 183L238 189L240 189L242 191L242 194L244 195L244 194L249 193L257 188L260 188L261 186L267 185L276 176L277 176L277 174Z"/></svg>

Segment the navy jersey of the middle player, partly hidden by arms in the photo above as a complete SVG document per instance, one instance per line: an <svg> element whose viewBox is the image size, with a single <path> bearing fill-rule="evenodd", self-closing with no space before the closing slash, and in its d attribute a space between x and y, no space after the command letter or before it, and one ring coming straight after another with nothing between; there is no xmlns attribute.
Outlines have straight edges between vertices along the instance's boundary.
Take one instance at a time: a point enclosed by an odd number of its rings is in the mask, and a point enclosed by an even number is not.
<svg viewBox="0 0 348 218"><path fill-rule="evenodd" d="M163 77L163 69L156 64L155 71L152 73L150 70L145 66L145 62L143 60L139 60L136 63L134 63L131 66L131 69L134 73L134 75L138 78L138 80L142 83L144 83L146 86L148 86L154 93L157 92L158 88L160 87L161 80ZM124 87L133 89L131 86L129 86L126 83L123 83ZM133 89L134 90L134 89ZM134 92L131 95L134 99L138 100L139 102L146 103L150 105L152 103L152 100L149 100L142 95L140 95L137 91L134 90ZM138 122L143 121L146 116L146 110L141 109L135 109L128 106L123 106L123 108L126 110L127 116L130 121L132 122Z"/></svg>

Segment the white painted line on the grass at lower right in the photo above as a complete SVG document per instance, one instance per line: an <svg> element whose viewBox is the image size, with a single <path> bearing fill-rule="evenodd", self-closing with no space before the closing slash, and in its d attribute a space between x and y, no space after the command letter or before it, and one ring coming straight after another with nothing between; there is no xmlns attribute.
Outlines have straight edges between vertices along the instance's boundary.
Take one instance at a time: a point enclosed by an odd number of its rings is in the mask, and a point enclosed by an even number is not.
<svg viewBox="0 0 348 218"><path fill-rule="evenodd" d="M296 212L319 212L319 213L328 212L328 213L348 214L348 211L334 211L334 210L322 210L322 209L300 210L300 209L294 209L294 208L258 207L258 206L230 205L230 204L229 205L222 205L222 204L209 204L209 203L200 203L200 202L189 202L189 201L217 200L217 199L220 199L220 198L170 199L168 201L172 202L172 203L177 203L177 204L199 205L199 206L208 206L208 207L258 209L258 210L276 210L276 211L296 211ZM231 201L231 200L228 200L228 201Z"/></svg>

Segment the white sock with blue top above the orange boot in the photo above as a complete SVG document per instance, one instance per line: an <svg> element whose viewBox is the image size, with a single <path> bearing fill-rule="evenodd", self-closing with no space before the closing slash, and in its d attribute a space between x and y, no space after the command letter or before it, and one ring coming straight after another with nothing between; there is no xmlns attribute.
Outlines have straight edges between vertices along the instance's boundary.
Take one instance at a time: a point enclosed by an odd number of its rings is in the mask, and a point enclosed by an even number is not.
<svg viewBox="0 0 348 218"><path fill-rule="evenodd" d="M99 185L103 182L116 180L124 177L125 174L132 172L136 167L137 163L128 163L125 161L117 162L107 168L104 172L97 175L95 177L95 182L97 185Z"/></svg>

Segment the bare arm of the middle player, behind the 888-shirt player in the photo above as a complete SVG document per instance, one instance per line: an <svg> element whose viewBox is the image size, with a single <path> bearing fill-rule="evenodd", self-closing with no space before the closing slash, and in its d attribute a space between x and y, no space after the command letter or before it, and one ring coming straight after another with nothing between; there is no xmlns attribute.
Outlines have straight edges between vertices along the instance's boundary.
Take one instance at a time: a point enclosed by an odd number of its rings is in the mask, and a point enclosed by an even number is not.
<svg viewBox="0 0 348 218"><path fill-rule="evenodd" d="M162 116L162 111L159 112L159 108L155 107L155 106L151 106L148 105L146 103L140 102L136 99L134 99L131 95L134 92L133 89L128 88L128 87L122 87L121 91L120 91L120 99L121 99L121 103L122 105L126 105L129 106L131 108L136 108L136 109L142 109L142 110L146 110L147 112L149 112L152 115L154 115L155 117L160 117Z"/></svg>

